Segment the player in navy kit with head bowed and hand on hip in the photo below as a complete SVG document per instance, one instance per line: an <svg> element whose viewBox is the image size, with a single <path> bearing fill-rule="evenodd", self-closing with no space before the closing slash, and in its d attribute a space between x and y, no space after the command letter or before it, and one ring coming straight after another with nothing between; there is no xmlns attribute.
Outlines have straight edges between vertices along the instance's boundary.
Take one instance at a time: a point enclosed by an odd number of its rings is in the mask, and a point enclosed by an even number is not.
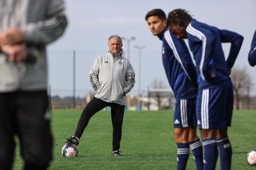
<svg viewBox="0 0 256 170"><path fill-rule="evenodd" d="M233 84L229 78L243 37L193 19L187 11L173 10L168 15L169 29L177 37L188 38L197 67L197 125L204 144L204 169L215 169L218 150L221 169L231 168L232 150L227 127L233 112ZM225 60L221 43L231 43Z"/></svg>

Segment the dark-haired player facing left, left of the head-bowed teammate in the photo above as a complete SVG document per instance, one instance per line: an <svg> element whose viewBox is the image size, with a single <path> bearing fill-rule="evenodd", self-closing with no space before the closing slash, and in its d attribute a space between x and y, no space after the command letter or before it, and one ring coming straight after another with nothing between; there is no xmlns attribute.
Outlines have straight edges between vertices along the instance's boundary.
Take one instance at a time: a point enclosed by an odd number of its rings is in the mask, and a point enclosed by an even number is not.
<svg viewBox="0 0 256 170"><path fill-rule="evenodd" d="M197 75L189 50L183 39L173 35L166 25L161 9L146 15L153 35L163 41L162 58L166 77L176 99L174 111L174 139L177 143L177 169L185 169L191 148L197 169L203 169L203 148L196 135Z"/></svg>

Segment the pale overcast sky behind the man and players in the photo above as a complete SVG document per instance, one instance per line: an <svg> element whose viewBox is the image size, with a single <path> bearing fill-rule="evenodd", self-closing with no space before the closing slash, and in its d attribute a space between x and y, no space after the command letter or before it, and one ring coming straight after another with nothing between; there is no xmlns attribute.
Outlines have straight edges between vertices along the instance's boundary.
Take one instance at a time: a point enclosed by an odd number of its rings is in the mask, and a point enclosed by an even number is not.
<svg viewBox="0 0 256 170"><path fill-rule="evenodd" d="M244 43L235 66L246 67L252 79L256 72L256 67L251 67L247 62L247 54L256 29L255 0L66 0L65 2L68 28L65 35L48 48L50 85L53 94L72 95L70 90L73 88L73 50L76 50L78 57L77 95L83 96L87 93L86 90L92 90L88 81L90 67L97 55L108 51L107 39L114 34L126 38L136 37L131 41L131 63L137 73L137 79L139 54L134 46L146 46L142 50L141 89L146 89L156 78L164 81L166 87L169 87L162 66L162 43L151 35L145 21L146 13L154 8L162 8L166 15L175 8L185 8L198 21L240 33L244 37ZM123 49L126 52L126 41L123 42ZM227 55L229 45L223 45L223 49ZM256 84L256 81L253 83ZM68 94L65 90L69 91ZM133 91L136 90L138 83L135 84ZM256 88L254 90L256 91Z"/></svg>

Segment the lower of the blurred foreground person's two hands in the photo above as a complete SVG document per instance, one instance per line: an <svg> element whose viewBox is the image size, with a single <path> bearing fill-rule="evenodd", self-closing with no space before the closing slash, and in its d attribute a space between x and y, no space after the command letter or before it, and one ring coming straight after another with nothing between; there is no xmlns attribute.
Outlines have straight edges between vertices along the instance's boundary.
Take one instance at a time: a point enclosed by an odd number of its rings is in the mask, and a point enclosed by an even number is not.
<svg viewBox="0 0 256 170"><path fill-rule="evenodd" d="M21 63L27 59L27 50L23 45L5 45L1 50L8 56L9 62Z"/></svg>

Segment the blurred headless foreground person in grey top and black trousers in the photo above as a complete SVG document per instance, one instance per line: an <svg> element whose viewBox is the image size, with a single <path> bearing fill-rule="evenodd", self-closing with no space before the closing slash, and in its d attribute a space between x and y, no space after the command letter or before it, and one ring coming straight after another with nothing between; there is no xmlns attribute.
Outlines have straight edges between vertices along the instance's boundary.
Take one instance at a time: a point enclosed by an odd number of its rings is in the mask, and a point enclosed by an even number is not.
<svg viewBox="0 0 256 170"><path fill-rule="evenodd" d="M23 169L52 159L46 45L67 26L63 0L0 0L0 169L11 169L19 138Z"/></svg>

